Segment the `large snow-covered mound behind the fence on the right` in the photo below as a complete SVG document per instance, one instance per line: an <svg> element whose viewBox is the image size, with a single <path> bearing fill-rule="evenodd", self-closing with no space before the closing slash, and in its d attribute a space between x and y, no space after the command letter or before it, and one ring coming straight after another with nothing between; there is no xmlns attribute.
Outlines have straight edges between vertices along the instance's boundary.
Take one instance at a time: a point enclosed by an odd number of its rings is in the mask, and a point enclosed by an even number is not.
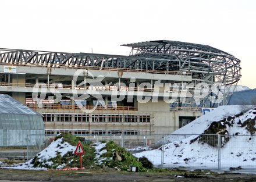
<svg viewBox="0 0 256 182"><path fill-rule="evenodd" d="M168 141L172 142L134 155L145 156L154 165L160 165L163 148L166 166L218 167L218 137L209 134L221 134L222 167L253 167L256 165L256 108L241 113L243 109L221 106L169 135ZM187 134L187 137L178 140L176 134Z"/></svg>

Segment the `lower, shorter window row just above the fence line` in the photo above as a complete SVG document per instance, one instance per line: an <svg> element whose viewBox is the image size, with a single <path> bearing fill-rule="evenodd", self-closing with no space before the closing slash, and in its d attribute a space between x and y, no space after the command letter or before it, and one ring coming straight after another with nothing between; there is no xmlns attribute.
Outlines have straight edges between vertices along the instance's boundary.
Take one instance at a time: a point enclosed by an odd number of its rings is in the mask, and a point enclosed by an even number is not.
<svg viewBox="0 0 256 182"><path fill-rule="evenodd" d="M122 133L122 130L92 130L91 133L88 130L45 130L45 135L51 136L51 135L57 135L60 133L72 133L74 135L137 135L138 131L136 130L124 130Z"/></svg>

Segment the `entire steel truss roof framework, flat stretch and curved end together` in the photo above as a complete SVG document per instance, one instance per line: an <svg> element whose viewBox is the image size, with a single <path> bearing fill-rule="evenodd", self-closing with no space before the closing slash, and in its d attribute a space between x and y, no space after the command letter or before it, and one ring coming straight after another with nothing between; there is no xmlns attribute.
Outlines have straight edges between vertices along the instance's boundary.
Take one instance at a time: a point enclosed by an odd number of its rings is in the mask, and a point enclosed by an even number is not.
<svg viewBox="0 0 256 182"><path fill-rule="evenodd" d="M226 98L232 93L231 87L227 85L236 85L241 77L239 59L208 45L159 40L122 46L131 47L129 56L0 48L0 63L47 67L98 66L134 70L188 71L192 73L195 84L222 83L226 90ZM224 101L224 104L227 102ZM201 106L204 103L206 101L202 101Z"/></svg>

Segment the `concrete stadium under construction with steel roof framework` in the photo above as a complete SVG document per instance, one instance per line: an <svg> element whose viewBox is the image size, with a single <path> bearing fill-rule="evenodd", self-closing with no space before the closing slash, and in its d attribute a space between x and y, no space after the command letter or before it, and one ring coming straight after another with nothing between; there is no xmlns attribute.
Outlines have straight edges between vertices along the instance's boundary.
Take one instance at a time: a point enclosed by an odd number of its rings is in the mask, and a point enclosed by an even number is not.
<svg viewBox="0 0 256 182"><path fill-rule="evenodd" d="M201 108L228 104L235 88L229 85L241 77L239 59L208 45L161 40L122 46L131 48L129 56L1 48L0 93L41 113L47 136L159 134L201 116ZM200 103L198 83L210 90ZM219 104L211 102L215 83L224 97ZM150 101L138 102L141 93Z"/></svg>

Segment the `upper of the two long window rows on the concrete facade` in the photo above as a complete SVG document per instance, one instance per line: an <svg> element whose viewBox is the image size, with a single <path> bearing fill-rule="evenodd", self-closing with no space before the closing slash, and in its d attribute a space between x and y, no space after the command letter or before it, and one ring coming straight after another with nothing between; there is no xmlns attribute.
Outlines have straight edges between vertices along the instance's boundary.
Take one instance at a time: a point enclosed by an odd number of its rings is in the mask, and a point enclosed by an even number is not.
<svg viewBox="0 0 256 182"><path fill-rule="evenodd" d="M43 114L44 122L89 122L90 115ZM150 123L150 115L91 115L91 122Z"/></svg>

